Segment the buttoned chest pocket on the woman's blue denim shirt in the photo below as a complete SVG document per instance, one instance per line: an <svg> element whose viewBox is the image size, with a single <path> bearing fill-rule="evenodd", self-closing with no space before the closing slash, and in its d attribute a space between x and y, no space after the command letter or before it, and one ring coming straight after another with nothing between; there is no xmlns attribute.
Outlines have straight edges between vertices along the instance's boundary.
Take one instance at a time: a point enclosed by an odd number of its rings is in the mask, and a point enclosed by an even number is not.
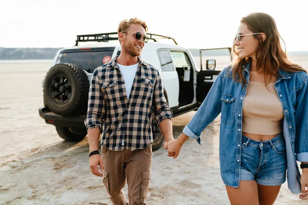
<svg viewBox="0 0 308 205"><path fill-rule="evenodd" d="M235 96L222 94L221 98L221 122L231 124L234 122Z"/></svg>

